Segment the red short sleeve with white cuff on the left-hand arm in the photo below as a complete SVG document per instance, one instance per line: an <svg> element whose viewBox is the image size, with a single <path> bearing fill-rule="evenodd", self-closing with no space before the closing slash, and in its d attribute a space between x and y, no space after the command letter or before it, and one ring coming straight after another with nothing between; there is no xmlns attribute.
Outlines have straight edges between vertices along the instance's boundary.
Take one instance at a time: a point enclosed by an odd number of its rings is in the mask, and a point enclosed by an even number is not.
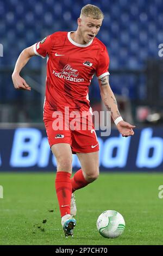
<svg viewBox="0 0 163 256"><path fill-rule="evenodd" d="M47 54L51 51L52 47L52 35L46 36L46 38L43 38L42 41L36 42L34 44L34 52L36 55L41 56L42 58L45 58Z"/></svg>

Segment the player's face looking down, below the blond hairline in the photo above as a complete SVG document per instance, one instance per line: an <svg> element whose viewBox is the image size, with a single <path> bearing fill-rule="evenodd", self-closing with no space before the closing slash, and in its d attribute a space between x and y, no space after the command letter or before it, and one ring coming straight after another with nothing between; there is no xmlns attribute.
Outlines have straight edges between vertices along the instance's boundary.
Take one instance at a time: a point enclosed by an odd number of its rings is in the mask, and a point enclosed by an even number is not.
<svg viewBox="0 0 163 256"><path fill-rule="evenodd" d="M79 18L80 33L83 37L83 41L88 44L98 34L99 29L102 26L103 19L93 19L91 17L82 16Z"/></svg>

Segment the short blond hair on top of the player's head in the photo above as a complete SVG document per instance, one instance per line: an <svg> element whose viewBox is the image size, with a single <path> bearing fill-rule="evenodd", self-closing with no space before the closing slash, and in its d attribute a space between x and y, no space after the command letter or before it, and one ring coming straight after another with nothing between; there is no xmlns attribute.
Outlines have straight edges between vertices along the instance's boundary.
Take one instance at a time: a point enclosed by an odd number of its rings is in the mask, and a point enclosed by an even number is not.
<svg viewBox="0 0 163 256"><path fill-rule="evenodd" d="M91 17L93 19L104 19L104 14L101 9L99 9L96 5L87 4L85 5L80 13L80 16L84 15L86 17Z"/></svg>

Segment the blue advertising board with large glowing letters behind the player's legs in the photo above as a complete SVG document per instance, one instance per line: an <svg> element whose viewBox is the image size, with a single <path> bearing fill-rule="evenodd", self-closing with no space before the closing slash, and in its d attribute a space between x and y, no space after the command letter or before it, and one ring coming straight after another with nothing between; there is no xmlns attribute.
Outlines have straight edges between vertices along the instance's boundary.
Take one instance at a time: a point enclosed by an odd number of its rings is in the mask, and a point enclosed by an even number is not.
<svg viewBox="0 0 163 256"><path fill-rule="evenodd" d="M109 137L99 134L101 170L163 172L163 127L135 129L135 135L128 138L117 130L111 130ZM0 171L56 170L45 130L1 129L0 141ZM73 169L79 168L78 157L73 155Z"/></svg>

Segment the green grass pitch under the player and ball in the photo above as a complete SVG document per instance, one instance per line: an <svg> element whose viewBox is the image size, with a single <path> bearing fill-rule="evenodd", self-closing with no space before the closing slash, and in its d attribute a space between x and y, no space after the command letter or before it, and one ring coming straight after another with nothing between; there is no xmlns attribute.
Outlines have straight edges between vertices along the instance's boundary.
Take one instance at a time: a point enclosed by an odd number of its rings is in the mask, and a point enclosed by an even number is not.
<svg viewBox="0 0 163 256"><path fill-rule="evenodd" d="M64 236L54 173L0 173L0 245L162 245L163 199L159 173L101 173L76 191L77 226ZM52 211L53 210L53 211ZM102 237L96 221L103 211L116 210L126 229L116 239Z"/></svg>

